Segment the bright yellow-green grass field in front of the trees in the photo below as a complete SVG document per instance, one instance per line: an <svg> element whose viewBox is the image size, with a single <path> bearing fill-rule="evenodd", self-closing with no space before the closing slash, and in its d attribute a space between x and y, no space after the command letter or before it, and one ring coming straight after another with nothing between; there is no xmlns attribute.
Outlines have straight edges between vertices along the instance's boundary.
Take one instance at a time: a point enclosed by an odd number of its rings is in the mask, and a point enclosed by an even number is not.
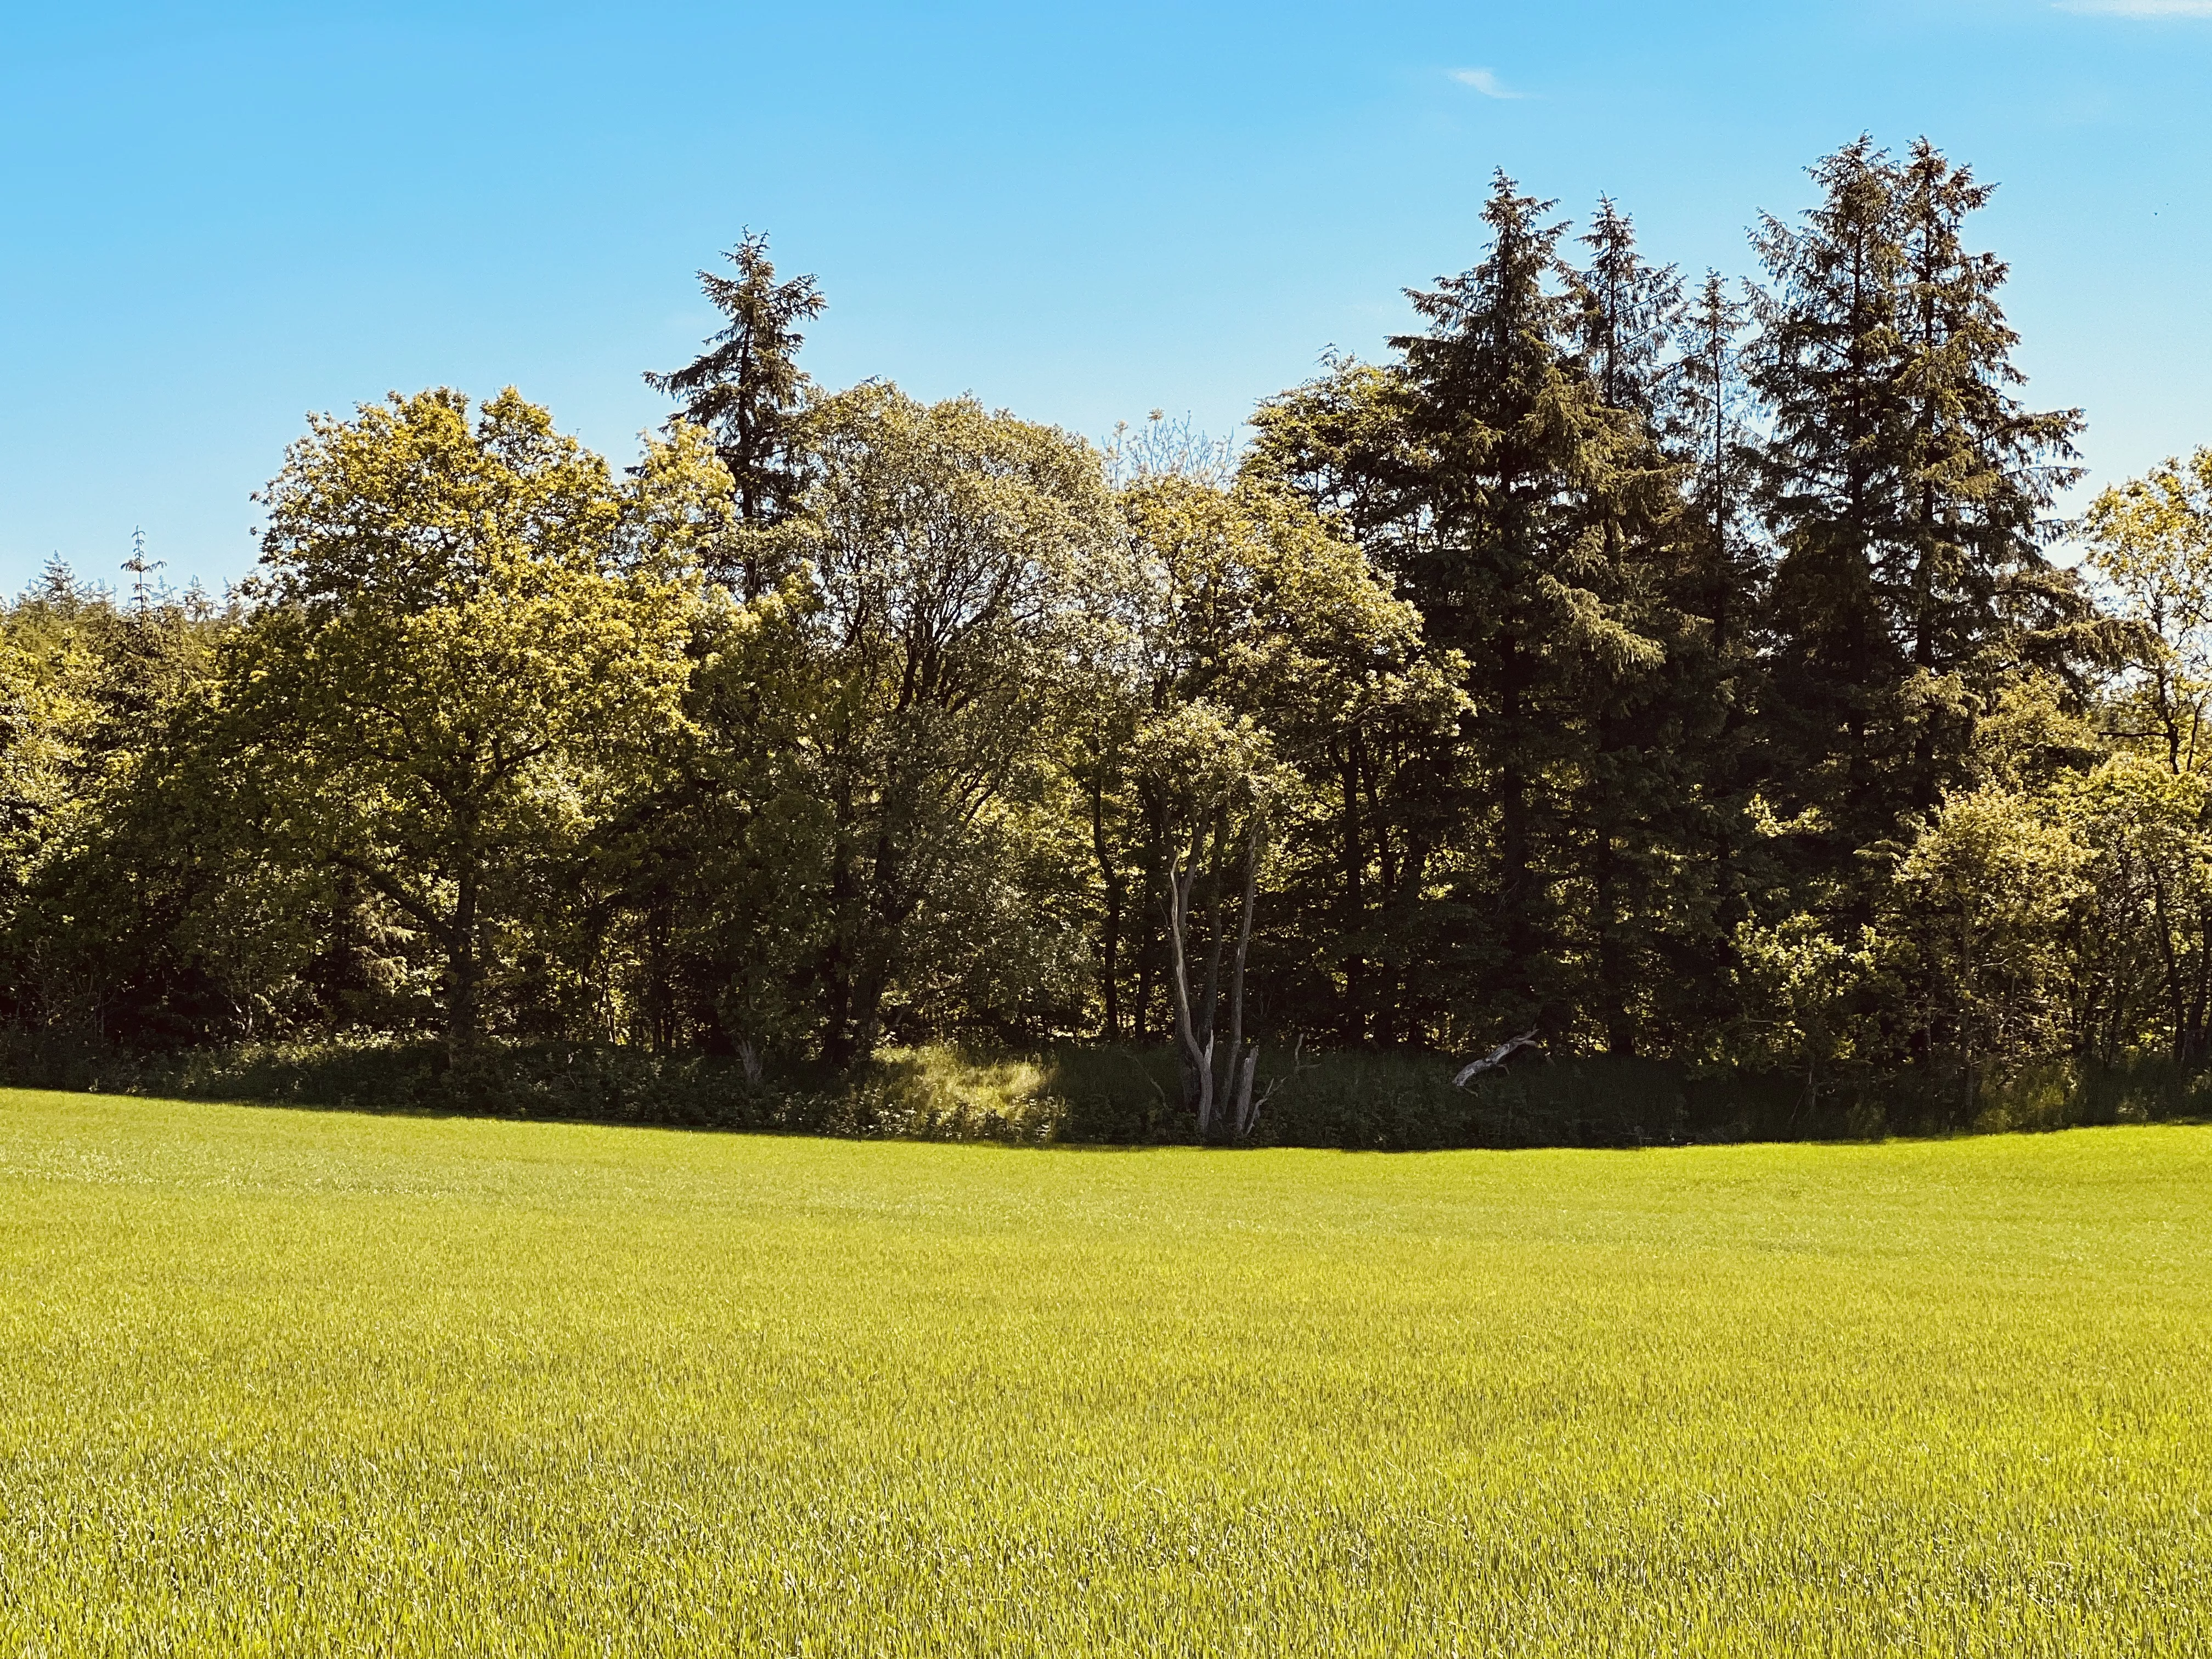
<svg viewBox="0 0 2212 1659"><path fill-rule="evenodd" d="M2205 1652L2208 1221L0 1093L0 1652Z"/></svg>

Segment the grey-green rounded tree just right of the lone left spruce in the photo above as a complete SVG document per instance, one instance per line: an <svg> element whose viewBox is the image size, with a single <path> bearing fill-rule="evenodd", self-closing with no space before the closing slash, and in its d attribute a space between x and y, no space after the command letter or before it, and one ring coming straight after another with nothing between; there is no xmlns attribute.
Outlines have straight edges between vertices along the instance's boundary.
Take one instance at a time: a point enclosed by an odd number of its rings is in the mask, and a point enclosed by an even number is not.
<svg viewBox="0 0 2212 1659"><path fill-rule="evenodd" d="M865 385L812 434L801 626L825 695L801 741L832 836L821 1046L849 1060L916 953L949 945L929 940L942 896L995 874L978 836L1115 650L1121 535L1097 453L1055 427Z"/></svg>

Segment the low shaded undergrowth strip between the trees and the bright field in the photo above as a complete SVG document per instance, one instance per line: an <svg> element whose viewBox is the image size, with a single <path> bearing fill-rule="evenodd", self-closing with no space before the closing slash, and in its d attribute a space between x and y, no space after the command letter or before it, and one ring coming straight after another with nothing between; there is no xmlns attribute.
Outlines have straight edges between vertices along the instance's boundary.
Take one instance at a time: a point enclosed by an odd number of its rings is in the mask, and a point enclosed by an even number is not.
<svg viewBox="0 0 2212 1659"><path fill-rule="evenodd" d="M487 1046L453 1066L436 1042L250 1044L175 1055L86 1053L18 1035L15 1084L602 1124L942 1141L1157 1146L1197 1139L1168 1048L1057 1046L1031 1055L925 1044L852 1071L750 1079L734 1060L593 1044ZM1803 1075L1699 1073L1601 1055L1517 1064L1451 1086L1425 1053L1265 1051L1252 1141L1343 1150L1666 1146L1876 1139L2159 1121L2212 1110L2212 1075L2163 1057L2079 1060L1978 1077L1924 1068L1807 1091ZM1272 1091L1272 1093L1270 1093Z"/></svg>

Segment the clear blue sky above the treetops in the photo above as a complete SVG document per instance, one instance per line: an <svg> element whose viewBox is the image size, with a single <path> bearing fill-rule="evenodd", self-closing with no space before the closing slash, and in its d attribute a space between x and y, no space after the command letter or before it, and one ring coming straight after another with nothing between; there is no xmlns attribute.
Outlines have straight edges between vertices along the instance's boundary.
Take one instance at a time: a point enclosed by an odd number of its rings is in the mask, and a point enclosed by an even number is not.
<svg viewBox="0 0 2212 1659"><path fill-rule="evenodd" d="M254 557L310 409L513 383L615 458L745 226L816 378L1228 431L1480 254L1491 168L1745 272L1871 131L2002 188L2028 396L2212 442L2212 0L0 0L0 584Z"/></svg>

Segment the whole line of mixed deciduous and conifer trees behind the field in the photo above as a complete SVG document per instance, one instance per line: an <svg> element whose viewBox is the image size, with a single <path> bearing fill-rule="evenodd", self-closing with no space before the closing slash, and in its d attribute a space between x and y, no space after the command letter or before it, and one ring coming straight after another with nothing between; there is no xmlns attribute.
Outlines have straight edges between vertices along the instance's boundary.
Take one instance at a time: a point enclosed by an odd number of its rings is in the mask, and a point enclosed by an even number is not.
<svg viewBox="0 0 2212 1659"><path fill-rule="evenodd" d="M2212 453L2062 522L1989 186L1812 177L1732 283L1500 175L1234 451L818 387L761 237L626 471L513 389L314 418L221 599L7 608L0 1018L1168 1044L1201 1135L1261 1040L2194 1066Z"/></svg>

